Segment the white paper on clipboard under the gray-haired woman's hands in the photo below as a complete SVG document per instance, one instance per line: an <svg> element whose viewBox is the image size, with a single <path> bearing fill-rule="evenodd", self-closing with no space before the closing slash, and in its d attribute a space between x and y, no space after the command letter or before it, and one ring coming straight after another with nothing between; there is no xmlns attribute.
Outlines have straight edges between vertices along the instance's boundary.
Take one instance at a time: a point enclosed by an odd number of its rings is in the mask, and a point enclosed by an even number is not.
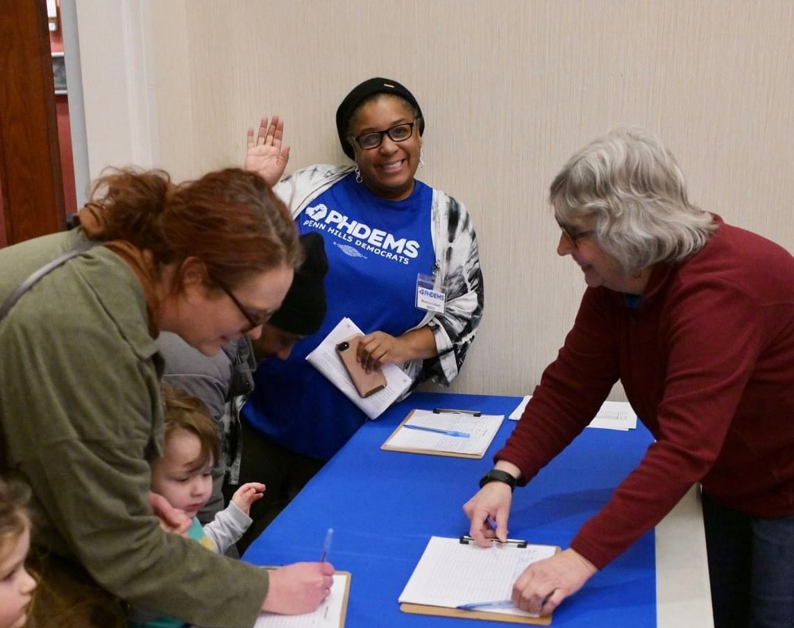
<svg viewBox="0 0 794 628"><path fill-rule="evenodd" d="M461 604L510 599L513 584L535 561L554 555L551 545L497 545L483 548L457 538L430 537L399 602L455 608ZM516 607L483 611L537 617Z"/></svg>

